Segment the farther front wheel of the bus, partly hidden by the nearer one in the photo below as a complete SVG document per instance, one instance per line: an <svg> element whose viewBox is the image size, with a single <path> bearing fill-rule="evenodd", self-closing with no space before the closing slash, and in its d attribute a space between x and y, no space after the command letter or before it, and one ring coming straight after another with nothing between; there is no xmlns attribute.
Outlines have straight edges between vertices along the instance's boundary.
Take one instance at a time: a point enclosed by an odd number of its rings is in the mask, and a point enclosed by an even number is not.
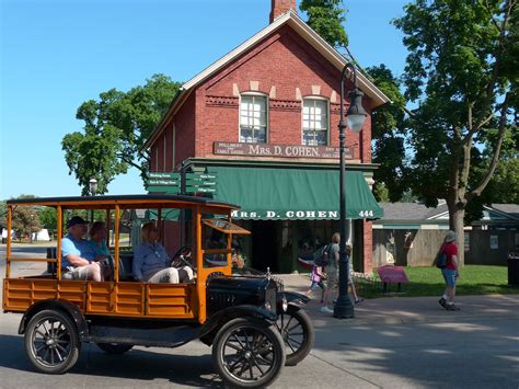
<svg viewBox="0 0 519 389"><path fill-rule="evenodd" d="M287 353L287 366L296 366L312 351L315 330L307 312L296 306L288 306L276 323Z"/></svg>

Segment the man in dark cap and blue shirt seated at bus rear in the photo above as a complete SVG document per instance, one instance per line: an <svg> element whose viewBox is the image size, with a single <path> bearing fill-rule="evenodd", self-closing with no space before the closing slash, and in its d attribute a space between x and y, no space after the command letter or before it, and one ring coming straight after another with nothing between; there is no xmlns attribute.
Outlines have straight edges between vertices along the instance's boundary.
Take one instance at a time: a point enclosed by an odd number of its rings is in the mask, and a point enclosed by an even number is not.
<svg viewBox="0 0 519 389"><path fill-rule="evenodd" d="M69 232L61 239L61 271L64 279L101 281L101 267L92 244L83 239L88 222L73 216L67 224Z"/></svg>

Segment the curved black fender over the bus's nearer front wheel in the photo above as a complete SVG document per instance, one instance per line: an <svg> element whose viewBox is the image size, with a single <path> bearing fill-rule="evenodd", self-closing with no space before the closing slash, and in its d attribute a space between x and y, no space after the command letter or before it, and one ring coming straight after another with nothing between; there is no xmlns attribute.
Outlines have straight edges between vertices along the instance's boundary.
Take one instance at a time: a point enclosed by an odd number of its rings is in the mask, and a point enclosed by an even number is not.
<svg viewBox="0 0 519 389"><path fill-rule="evenodd" d="M249 305L229 307L212 314L203 324L196 337L200 339L205 344L211 345L214 337L224 323L235 318L245 317L263 319L272 323L277 320L277 314L275 312L262 307Z"/></svg>

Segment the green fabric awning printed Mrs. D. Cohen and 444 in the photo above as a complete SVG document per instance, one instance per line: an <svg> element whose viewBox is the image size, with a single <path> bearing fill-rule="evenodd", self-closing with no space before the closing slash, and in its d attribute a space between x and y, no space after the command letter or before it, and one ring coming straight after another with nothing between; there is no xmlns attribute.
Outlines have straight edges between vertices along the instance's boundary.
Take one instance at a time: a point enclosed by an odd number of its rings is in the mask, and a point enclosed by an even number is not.
<svg viewBox="0 0 519 389"><path fill-rule="evenodd" d="M240 205L237 219L338 219L338 170L208 167L218 173L216 198ZM348 219L383 216L362 172L346 173Z"/></svg>

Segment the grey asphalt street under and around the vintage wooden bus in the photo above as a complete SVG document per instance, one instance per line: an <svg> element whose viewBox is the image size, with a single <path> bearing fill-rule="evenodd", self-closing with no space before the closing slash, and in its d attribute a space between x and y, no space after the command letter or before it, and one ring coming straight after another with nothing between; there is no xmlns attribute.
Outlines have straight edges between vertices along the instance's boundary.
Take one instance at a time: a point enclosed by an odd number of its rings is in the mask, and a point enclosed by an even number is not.
<svg viewBox="0 0 519 389"><path fill-rule="evenodd" d="M45 256L45 250L36 251ZM287 277L287 289L307 285L299 283L302 277L293 279ZM324 317L312 301L315 346L298 366L286 367L273 387L519 388L518 299L460 298L466 309L457 314L442 311L435 298L384 298L362 302L350 320ZM199 342L174 350L136 347L119 356L83 344L69 373L37 374L18 335L19 321L19 314L0 314L0 388L221 387L210 348Z"/></svg>

